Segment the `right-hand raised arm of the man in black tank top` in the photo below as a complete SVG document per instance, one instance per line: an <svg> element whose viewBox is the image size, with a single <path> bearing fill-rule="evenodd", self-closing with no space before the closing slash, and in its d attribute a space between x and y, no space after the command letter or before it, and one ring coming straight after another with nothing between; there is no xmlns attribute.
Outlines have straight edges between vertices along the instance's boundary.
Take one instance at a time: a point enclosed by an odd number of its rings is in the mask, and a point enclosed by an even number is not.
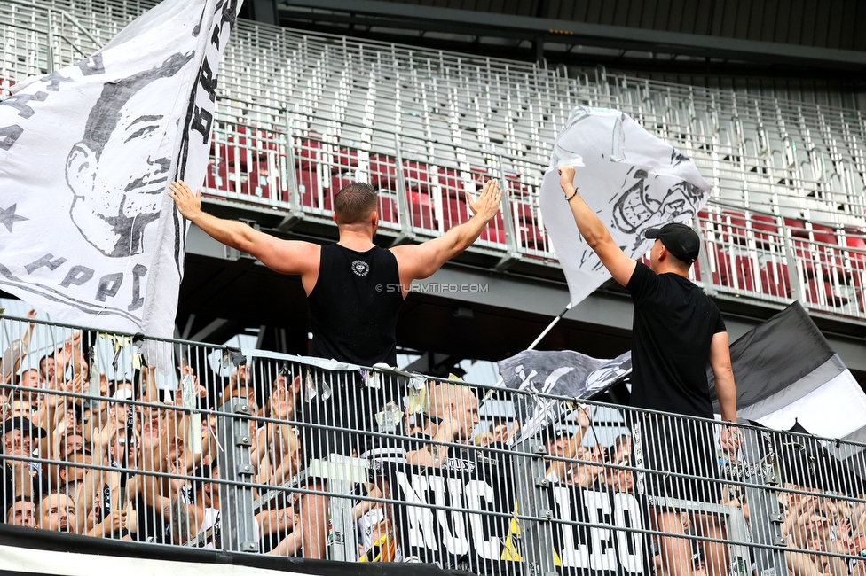
<svg viewBox="0 0 866 576"><path fill-rule="evenodd" d="M502 192L499 183L488 180L477 200L468 192L466 198L473 214L467 222L454 226L442 236L423 244L391 248L391 252L397 257L404 295L413 280L432 276L446 261L466 250L481 236L487 222L499 211Z"/></svg>

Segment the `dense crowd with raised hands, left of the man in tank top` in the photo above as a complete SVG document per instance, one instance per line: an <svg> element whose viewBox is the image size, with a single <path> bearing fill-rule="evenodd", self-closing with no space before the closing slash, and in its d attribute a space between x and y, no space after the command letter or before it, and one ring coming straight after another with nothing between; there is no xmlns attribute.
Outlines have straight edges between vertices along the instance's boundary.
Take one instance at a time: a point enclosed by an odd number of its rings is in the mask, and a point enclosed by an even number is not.
<svg viewBox="0 0 866 576"><path fill-rule="evenodd" d="M240 397L252 416L272 418L267 424L249 420L254 485L279 486L299 470L297 432L278 424L293 417L297 380L275 378L260 409L248 366L234 370L217 390L218 385L199 385L184 362L177 369L181 384L166 393L157 388L154 367L140 357L140 368L128 379L91 373L80 332L30 368L22 362L34 328L31 323L10 346L2 365L0 520L7 524L218 546L216 416L204 410L194 417L195 411L183 409L185 385L196 399L193 408ZM297 551L282 542L295 527L293 505L285 502L256 516L256 528L269 536L261 539L264 552Z"/></svg>

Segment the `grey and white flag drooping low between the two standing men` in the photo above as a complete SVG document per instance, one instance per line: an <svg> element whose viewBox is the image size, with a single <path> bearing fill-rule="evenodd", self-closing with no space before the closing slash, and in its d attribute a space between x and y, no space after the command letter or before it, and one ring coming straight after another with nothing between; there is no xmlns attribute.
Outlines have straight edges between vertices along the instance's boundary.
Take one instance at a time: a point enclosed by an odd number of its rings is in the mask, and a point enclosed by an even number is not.
<svg viewBox="0 0 866 576"><path fill-rule="evenodd" d="M600 360L572 350L524 350L499 362L503 384L513 394L521 438L529 438L563 416L561 402L539 394L575 400L591 398L626 378L632 353Z"/></svg>

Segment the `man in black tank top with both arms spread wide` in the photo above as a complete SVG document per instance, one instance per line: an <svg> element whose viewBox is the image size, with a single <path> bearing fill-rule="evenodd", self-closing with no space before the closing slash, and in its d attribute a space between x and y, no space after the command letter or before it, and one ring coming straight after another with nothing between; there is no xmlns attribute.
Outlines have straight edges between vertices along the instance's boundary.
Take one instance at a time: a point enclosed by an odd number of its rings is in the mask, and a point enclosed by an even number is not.
<svg viewBox="0 0 866 576"><path fill-rule="evenodd" d="M432 276L472 245L496 216L502 193L496 181L488 181L478 198L467 194L473 213L468 222L421 245L390 250L373 243L379 225L378 198L374 187L366 183L351 183L337 192L334 221L340 240L324 247L281 240L243 222L202 212L201 191L193 194L183 182L171 183L169 196L187 220L218 242L254 256L276 272L301 276L310 302L311 355L361 366L380 362L395 366L398 311L413 280ZM366 388L359 380L357 372L336 375L328 393L301 403L298 420L339 429L305 427L308 433L303 434L301 444L307 459L331 453L360 455L367 448L381 446L381 440L358 432L379 432L375 415L389 401L398 401L402 391ZM311 504L310 509L313 507L323 510L321 502ZM311 524L325 525L325 518L311 518ZM304 532L303 550L306 557L322 557L321 531Z"/></svg>

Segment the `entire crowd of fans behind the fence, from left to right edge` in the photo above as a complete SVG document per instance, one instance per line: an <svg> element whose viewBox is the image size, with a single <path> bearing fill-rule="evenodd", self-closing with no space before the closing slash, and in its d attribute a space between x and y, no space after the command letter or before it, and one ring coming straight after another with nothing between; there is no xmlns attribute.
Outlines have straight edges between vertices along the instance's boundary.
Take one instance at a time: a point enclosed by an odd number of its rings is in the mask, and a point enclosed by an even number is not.
<svg viewBox="0 0 866 576"><path fill-rule="evenodd" d="M310 541L327 537L327 486L301 474L308 437L299 429L303 423L297 415L304 385L300 369L280 371L263 387L254 385L262 378L253 378L251 367L241 363L230 378L209 378L200 385L199 375L182 362L177 367L180 385L166 393L156 385L154 368L143 362L130 378L91 373L79 332L28 366L24 358L33 330L31 324L0 364L0 520L55 532L218 548L218 423L209 407L238 398L252 416L250 484L261 502L254 522L260 551L323 555L323 550L309 549ZM198 413L189 410L191 396ZM486 451L495 454L520 432L514 420L479 425L479 399L460 382L430 381L421 396L423 409L405 411L397 429L405 438L400 457L408 464L440 468ZM589 425L589 414L580 409L541 432L547 480L635 494L630 435L618 436L608 447L592 446L585 441ZM293 489L297 487L303 490ZM866 554L866 504L802 486L784 487L780 506L791 573L866 576L863 562L832 556ZM356 494L361 496L354 510L358 557L400 560L388 481L360 483ZM748 506L736 494L726 493L726 502L742 506L748 515ZM304 533L315 538L305 539ZM698 555L696 573L701 567ZM664 572L659 565L657 572Z"/></svg>

